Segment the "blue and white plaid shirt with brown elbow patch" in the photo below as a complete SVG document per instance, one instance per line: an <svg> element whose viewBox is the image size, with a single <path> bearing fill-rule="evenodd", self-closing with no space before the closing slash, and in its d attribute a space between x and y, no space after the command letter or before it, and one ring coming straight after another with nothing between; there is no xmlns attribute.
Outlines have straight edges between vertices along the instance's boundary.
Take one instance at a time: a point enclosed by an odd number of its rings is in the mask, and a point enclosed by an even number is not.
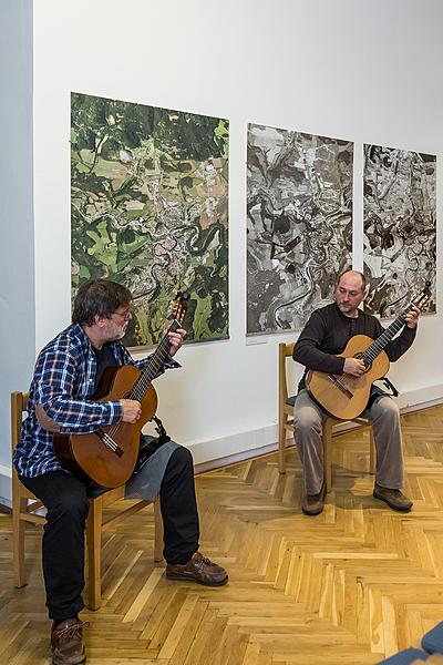
<svg viewBox="0 0 443 665"><path fill-rule="evenodd" d="M121 341L111 342L117 366L143 370L148 358L135 361ZM179 367L172 358L164 368ZM13 461L19 475L33 478L62 469L52 446L52 432L39 422L35 407L44 410L61 433L84 434L122 420L120 401L92 401L96 374L95 354L83 328L73 324L50 341L37 359L29 390L28 417Z"/></svg>

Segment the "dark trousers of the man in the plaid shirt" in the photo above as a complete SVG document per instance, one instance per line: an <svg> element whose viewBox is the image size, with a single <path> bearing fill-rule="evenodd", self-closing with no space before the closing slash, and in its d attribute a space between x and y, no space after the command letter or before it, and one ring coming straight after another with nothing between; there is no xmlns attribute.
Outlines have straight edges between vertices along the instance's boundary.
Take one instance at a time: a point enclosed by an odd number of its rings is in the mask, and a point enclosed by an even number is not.
<svg viewBox="0 0 443 665"><path fill-rule="evenodd" d="M47 606L55 621L75 616L84 607L84 529L89 511L87 485L51 471L20 478L48 509L42 560ZM198 512L193 458L186 448L174 450L159 491L167 563L186 563L198 550Z"/></svg>

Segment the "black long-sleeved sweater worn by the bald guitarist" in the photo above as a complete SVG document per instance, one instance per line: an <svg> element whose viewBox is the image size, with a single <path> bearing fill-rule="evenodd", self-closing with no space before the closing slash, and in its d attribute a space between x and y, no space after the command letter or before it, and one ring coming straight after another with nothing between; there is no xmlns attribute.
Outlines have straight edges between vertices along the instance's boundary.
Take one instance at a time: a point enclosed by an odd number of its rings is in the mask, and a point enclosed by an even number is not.
<svg viewBox="0 0 443 665"><path fill-rule="evenodd" d="M350 318L340 311L336 303L311 314L293 349L293 359L306 366L299 390L305 388L305 377L309 369L343 374L344 358L337 358L337 354L344 350L351 337L367 335L377 339L382 335L384 328L378 318L361 309L358 309L358 314L357 318ZM409 349L414 341L415 331L416 328L404 326L400 335L384 347L390 360L398 360Z"/></svg>

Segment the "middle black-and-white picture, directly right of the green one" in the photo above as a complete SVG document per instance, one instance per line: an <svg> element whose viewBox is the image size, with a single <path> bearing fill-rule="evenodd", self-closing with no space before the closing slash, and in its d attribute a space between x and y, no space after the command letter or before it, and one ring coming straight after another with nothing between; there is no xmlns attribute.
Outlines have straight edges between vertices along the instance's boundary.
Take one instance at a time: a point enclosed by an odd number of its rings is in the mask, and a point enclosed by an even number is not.
<svg viewBox="0 0 443 665"><path fill-rule="evenodd" d="M351 266L353 143L248 125L247 334L299 330Z"/></svg>

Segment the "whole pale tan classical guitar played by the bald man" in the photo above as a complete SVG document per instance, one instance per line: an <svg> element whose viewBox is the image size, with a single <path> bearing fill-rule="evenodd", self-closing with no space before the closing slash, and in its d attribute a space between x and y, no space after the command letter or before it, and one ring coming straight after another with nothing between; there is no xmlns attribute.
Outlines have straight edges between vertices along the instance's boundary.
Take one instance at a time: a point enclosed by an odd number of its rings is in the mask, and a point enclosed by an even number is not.
<svg viewBox="0 0 443 665"><path fill-rule="evenodd" d="M389 370L389 358L383 350L404 326L404 316L413 308L422 309L431 297L430 283L415 296L401 315L375 340L367 335L354 335L339 358L361 358L365 371L361 377L334 375L311 370L306 387L309 395L331 416L349 420L367 408L371 386Z"/></svg>

